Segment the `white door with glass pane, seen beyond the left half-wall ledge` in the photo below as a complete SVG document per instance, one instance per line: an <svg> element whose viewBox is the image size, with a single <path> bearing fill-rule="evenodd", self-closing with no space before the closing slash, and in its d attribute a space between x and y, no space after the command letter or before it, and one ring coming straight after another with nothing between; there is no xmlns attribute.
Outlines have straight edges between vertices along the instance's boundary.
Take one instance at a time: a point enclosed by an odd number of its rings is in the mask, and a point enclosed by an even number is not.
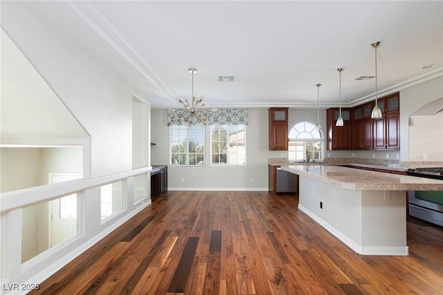
<svg viewBox="0 0 443 295"><path fill-rule="evenodd" d="M49 173L49 184L82 178L82 173ZM49 247L77 234L77 194L49 202Z"/></svg>

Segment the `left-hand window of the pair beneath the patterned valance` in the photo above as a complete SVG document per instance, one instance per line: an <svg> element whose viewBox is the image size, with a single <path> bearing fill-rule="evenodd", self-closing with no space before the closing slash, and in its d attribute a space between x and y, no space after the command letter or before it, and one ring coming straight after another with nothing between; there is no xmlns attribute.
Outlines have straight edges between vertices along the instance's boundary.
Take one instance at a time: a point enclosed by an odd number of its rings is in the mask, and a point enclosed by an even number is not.
<svg viewBox="0 0 443 295"><path fill-rule="evenodd" d="M205 165L204 125L171 125L171 165Z"/></svg>

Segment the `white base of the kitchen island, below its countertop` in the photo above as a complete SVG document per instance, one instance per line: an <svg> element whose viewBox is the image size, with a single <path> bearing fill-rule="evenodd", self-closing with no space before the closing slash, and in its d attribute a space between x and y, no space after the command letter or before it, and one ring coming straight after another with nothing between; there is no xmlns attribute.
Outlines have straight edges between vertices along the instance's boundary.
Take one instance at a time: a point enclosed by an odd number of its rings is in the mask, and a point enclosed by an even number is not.
<svg viewBox="0 0 443 295"><path fill-rule="evenodd" d="M408 255L404 192L345 190L300 176L298 208L356 253Z"/></svg>

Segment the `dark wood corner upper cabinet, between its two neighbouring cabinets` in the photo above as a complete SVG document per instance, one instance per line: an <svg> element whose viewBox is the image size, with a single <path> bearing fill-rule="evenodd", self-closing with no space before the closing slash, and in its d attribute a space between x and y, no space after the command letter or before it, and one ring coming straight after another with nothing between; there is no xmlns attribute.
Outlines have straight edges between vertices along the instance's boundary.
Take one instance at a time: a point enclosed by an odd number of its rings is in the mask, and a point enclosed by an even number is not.
<svg viewBox="0 0 443 295"><path fill-rule="evenodd" d="M352 149L372 150L372 108L374 104L368 102L352 109Z"/></svg>

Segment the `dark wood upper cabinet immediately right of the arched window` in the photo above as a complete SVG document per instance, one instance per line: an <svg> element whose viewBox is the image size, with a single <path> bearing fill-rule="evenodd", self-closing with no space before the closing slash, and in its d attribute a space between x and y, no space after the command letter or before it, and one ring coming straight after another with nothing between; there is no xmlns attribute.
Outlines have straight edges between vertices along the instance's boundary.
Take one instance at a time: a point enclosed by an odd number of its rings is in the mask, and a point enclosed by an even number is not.
<svg viewBox="0 0 443 295"><path fill-rule="evenodd" d="M343 126L336 126L340 109L326 110L327 150L351 150L351 109L342 108Z"/></svg>

